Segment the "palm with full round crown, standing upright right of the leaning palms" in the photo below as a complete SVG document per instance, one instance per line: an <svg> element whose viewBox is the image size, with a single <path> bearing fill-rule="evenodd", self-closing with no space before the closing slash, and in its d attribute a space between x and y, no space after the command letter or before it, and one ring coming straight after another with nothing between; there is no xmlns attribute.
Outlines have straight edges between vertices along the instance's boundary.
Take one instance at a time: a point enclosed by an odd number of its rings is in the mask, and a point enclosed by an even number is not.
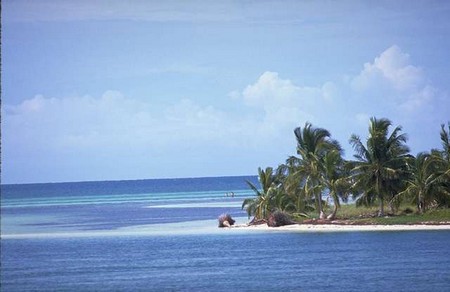
<svg viewBox="0 0 450 292"><path fill-rule="evenodd" d="M389 135L392 122L388 119L370 119L369 137L366 145L353 134L350 138L356 154L353 161L355 185L362 191L362 199L367 203L378 200L378 216L384 216L384 200L393 181L404 171L409 148L406 134L396 127Z"/></svg>

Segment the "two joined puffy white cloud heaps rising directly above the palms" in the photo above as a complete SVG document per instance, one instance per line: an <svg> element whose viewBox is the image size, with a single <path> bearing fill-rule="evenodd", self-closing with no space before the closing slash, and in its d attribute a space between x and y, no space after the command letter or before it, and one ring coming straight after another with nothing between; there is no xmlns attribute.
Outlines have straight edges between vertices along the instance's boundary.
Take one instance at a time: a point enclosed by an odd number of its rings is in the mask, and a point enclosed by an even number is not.
<svg viewBox="0 0 450 292"><path fill-rule="evenodd" d="M341 81L326 81L320 86L299 86L281 78L276 72L264 72L242 91L234 91L233 100L241 99L249 108L258 109L260 133L284 133L309 121L332 130L344 144L352 133L364 133L370 117L386 117L403 125L411 133L411 145L422 144L424 129L416 125L445 121L445 110L439 104L445 94L434 88L424 70L411 57L393 45L364 64L359 74ZM423 149L422 149L423 150ZM347 147L351 152L351 147Z"/></svg>

